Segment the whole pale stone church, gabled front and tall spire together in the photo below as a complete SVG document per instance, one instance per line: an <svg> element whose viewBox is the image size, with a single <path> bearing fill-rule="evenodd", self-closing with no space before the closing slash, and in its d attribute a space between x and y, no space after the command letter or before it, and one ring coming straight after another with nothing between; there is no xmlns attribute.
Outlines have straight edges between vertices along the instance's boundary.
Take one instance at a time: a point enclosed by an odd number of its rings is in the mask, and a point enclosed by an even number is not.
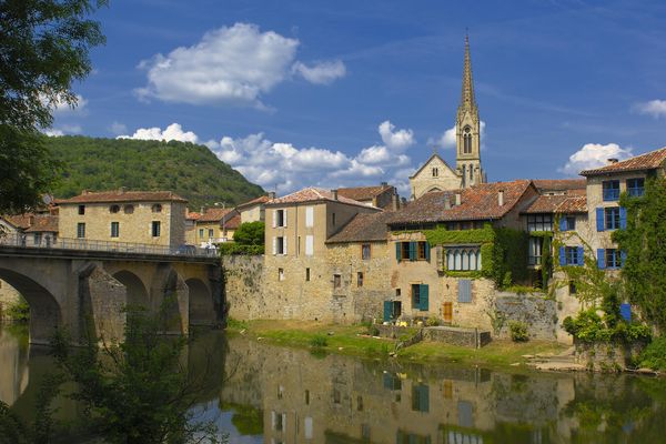
<svg viewBox="0 0 666 444"><path fill-rule="evenodd" d="M468 37L465 37L463 92L457 109L455 139L455 170L435 152L410 178L412 200L431 191L465 189L486 181L481 167L481 120L474 97Z"/></svg>

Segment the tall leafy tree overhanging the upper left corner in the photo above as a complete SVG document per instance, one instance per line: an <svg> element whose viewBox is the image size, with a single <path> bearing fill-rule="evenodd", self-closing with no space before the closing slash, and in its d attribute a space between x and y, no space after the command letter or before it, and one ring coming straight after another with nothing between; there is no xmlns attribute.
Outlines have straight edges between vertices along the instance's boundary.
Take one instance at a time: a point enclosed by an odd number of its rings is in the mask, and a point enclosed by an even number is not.
<svg viewBox="0 0 666 444"><path fill-rule="evenodd" d="M87 16L107 0L4 0L0 2L0 212L21 212L49 191L56 178L39 130L54 105L74 107L74 80L92 64L89 50L104 42Z"/></svg>

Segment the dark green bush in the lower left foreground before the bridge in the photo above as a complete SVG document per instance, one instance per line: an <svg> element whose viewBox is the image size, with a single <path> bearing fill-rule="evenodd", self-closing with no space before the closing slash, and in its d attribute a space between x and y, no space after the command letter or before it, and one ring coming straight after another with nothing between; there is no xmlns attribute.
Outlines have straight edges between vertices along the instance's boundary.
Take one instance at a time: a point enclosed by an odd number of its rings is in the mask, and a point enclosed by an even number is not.
<svg viewBox="0 0 666 444"><path fill-rule="evenodd" d="M71 397L83 404L87 426L109 443L216 442L214 424L191 421L204 387L181 365L186 340L160 336L164 313L130 307L127 316L122 343L89 337L74 347L62 331L53 339L53 355L77 384Z"/></svg>

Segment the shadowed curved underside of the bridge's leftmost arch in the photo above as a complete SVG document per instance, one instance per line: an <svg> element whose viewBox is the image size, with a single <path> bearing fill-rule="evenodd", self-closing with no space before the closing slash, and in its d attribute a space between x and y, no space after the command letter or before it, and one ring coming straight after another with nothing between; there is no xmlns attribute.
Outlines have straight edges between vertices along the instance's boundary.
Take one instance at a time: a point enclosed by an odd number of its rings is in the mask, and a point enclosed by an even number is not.
<svg viewBox="0 0 666 444"><path fill-rule="evenodd" d="M13 270L0 269L0 279L17 289L30 306L30 342L48 344L62 325L62 313L56 296L34 279Z"/></svg>

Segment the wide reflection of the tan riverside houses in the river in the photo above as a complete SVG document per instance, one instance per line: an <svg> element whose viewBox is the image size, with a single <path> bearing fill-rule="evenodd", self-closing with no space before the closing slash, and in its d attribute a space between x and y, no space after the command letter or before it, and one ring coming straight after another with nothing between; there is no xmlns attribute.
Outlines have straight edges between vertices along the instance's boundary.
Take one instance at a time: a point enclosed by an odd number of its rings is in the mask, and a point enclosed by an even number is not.
<svg viewBox="0 0 666 444"><path fill-rule="evenodd" d="M558 418L574 397L567 376L401 369L394 362L316 359L304 351L232 341L231 350L243 357L222 398L264 412L265 443L481 444L519 436L536 444L568 435L565 420ZM250 381L253 393L246 392Z"/></svg>

